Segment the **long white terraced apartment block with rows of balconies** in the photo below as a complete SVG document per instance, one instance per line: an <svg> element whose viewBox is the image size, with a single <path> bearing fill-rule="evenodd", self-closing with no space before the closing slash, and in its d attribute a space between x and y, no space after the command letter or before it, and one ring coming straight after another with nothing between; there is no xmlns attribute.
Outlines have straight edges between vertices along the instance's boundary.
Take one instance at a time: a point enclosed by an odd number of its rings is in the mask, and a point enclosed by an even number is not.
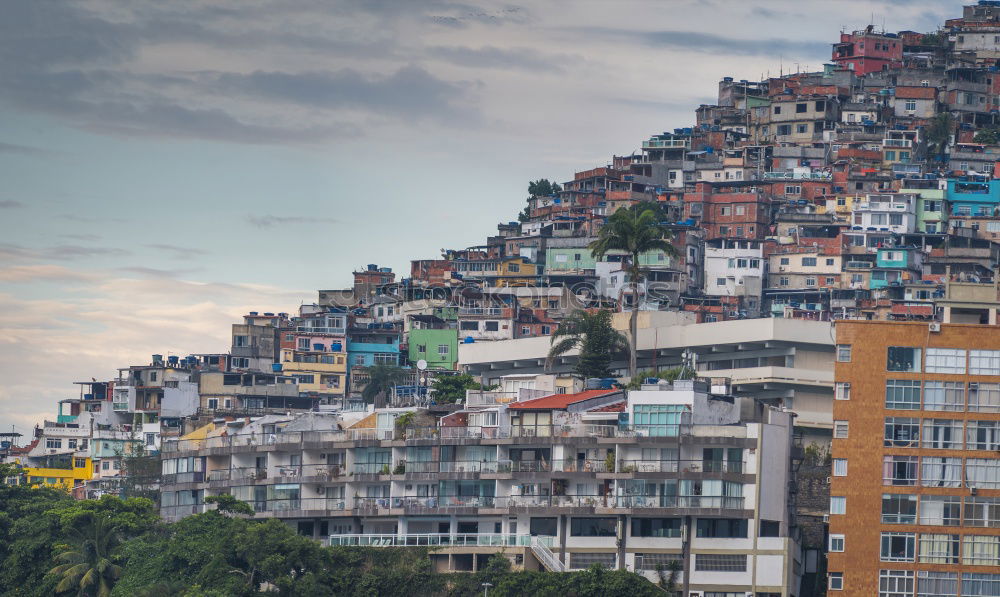
<svg viewBox="0 0 1000 597"><path fill-rule="evenodd" d="M599 563L651 580L676 561L686 595L798 594L790 413L696 380L394 428L402 412L343 430L330 415L271 416L167 440L161 514L227 493L334 545L438 546L438 570L476 570L502 548L526 568Z"/></svg>

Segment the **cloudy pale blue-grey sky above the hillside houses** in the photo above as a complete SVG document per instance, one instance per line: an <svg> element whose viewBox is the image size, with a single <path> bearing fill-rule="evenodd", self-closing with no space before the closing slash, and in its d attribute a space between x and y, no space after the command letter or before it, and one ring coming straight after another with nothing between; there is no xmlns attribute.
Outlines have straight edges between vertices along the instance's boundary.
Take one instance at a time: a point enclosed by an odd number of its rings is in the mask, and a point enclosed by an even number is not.
<svg viewBox="0 0 1000 597"><path fill-rule="evenodd" d="M224 352L368 263L484 242L529 180L690 126L941 0L0 0L0 429Z"/></svg>

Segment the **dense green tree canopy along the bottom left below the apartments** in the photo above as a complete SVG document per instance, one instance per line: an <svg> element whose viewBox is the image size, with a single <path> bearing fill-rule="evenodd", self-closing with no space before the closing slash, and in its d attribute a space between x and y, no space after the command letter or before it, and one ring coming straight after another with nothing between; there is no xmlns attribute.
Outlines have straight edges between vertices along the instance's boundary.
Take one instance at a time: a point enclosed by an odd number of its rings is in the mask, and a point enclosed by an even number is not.
<svg viewBox="0 0 1000 597"><path fill-rule="evenodd" d="M0 595L475 597L486 582L497 597L663 594L630 572L514 572L505 557L438 574L419 549L323 547L229 496L216 503L167 524L145 498L0 485Z"/></svg>

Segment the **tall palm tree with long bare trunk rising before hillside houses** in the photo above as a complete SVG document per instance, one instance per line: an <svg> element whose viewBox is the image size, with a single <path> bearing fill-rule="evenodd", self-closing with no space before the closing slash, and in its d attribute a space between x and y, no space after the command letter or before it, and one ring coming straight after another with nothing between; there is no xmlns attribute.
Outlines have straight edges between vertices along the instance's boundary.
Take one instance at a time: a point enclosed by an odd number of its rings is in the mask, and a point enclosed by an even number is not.
<svg viewBox="0 0 1000 597"><path fill-rule="evenodd" d="M628 273L633 300L632 317L628 326L630 339L628 371L631 377L635 377L636 374L639 350L637 344L639 282L643 277L639 256L650 251L662 251L668 257L676 257L677 250L670 244L670 238L670 229L664 223L660 207L655 203L643 201L613 213L597 234L597 240L588 247L595 259L601 259L609 253L625 253L622 267Z"/></svg>

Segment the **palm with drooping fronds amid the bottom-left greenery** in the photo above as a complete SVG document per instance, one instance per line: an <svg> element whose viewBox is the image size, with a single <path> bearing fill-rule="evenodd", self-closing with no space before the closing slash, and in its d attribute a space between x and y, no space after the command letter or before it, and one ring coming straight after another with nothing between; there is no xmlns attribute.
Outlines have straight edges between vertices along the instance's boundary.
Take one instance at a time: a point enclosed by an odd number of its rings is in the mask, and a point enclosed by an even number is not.
<svg viewBox="0 0 1000 597"><path fill-rule="evenodd" d="M98 518L84 530L73 529L74 540L63 545L55 557L62 562L49 574L61 576L57 593L76 590L78 597L110 597L111 589L121 577L122 568L112 561L118 545L118 534L107 527L106 519Z"/></svg>

